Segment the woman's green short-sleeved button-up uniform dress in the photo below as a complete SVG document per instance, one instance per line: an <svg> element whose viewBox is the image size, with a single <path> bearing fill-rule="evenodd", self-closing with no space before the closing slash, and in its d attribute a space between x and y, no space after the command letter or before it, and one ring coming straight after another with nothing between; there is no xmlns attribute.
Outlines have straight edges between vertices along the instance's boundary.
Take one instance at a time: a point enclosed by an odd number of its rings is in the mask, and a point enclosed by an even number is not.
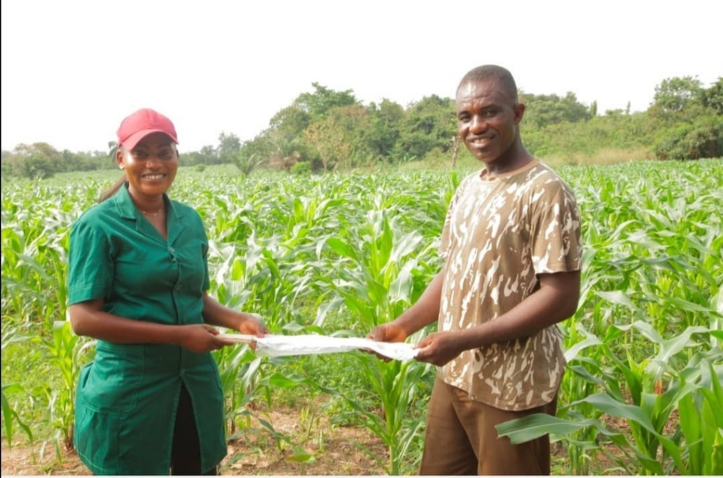
<svg viewBox="0 0 723 478"><path fill-rule="evenodd" d="M102 298L103 310L136 321L203 323L203 223L191 207L164 201L168 240L137 211L127 186L82 214L70 233L71 304ZM168 474L181 384L192 399L207 472L227 453L221 380L210 353L99 340L95 360L80 373L75 405L74 442L90 471Z"/></svg>

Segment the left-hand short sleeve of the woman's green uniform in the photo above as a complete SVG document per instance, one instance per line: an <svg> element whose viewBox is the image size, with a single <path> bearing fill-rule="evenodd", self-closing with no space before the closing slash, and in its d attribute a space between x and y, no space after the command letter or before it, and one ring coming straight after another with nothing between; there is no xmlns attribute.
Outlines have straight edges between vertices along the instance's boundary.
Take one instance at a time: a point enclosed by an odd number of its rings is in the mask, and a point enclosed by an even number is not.
<svg viewBox="0 0 723 478"><path fill-rule="evenodd" d="M114 261L108 235L93 221L81 217L70 230L68 259L69 303L108 297Z"/></svg>

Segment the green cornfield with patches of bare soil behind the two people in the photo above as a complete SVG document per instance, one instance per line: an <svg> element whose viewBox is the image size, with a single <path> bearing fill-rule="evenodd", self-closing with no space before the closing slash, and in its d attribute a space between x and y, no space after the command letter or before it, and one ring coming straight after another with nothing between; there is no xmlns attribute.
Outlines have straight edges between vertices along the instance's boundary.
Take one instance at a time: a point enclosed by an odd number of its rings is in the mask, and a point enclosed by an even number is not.
<svg viewBox="0 0 723 478"><path fill-rule="evenodd" d="M556 170L585 248L578 312L560 324L568 371L557 417L500 432L552 433L556 474L723 474L723 160ZM221 303L277 334L364 336L440 268L442 222L469 172L181 168L171 196L205 222ZM87 474L69 438L93 342L64 321L68 232L117 174L2 183L3 474ZM215 358L223 474L416 472L433 367L241 345Z"/></svg>

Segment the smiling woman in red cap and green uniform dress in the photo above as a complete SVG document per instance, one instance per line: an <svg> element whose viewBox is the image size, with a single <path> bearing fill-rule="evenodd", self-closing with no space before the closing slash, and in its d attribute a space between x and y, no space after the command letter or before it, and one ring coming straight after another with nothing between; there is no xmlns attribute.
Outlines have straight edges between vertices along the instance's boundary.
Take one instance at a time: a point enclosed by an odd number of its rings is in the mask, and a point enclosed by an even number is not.
<svg viewBox="0 0 723 478"><path fill-rule="evenodd" d="M201 218L166 195L177 143L160 113L125 118L116 152L123 181L70 233L70 320L76 334L98 339L80 373L74 436L94 474L215 474L226 438L210 351L230 342L212 326L268 332L206 292Z"/></svg>

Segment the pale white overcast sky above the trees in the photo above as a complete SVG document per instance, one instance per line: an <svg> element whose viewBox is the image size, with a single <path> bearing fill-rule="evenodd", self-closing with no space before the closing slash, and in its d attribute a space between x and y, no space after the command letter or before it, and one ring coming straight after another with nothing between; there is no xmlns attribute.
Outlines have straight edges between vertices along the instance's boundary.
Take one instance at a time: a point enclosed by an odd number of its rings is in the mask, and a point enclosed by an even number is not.
<svg viewBox="0 0 723 478"><path fill-rule="evenodd" d="M253 139L312 82L365 105L453 97L481 64L536 95L645 110L669 77L723 76L723 1L1 2L1 147L107 151L153 108L179 150Z"/></svg>

